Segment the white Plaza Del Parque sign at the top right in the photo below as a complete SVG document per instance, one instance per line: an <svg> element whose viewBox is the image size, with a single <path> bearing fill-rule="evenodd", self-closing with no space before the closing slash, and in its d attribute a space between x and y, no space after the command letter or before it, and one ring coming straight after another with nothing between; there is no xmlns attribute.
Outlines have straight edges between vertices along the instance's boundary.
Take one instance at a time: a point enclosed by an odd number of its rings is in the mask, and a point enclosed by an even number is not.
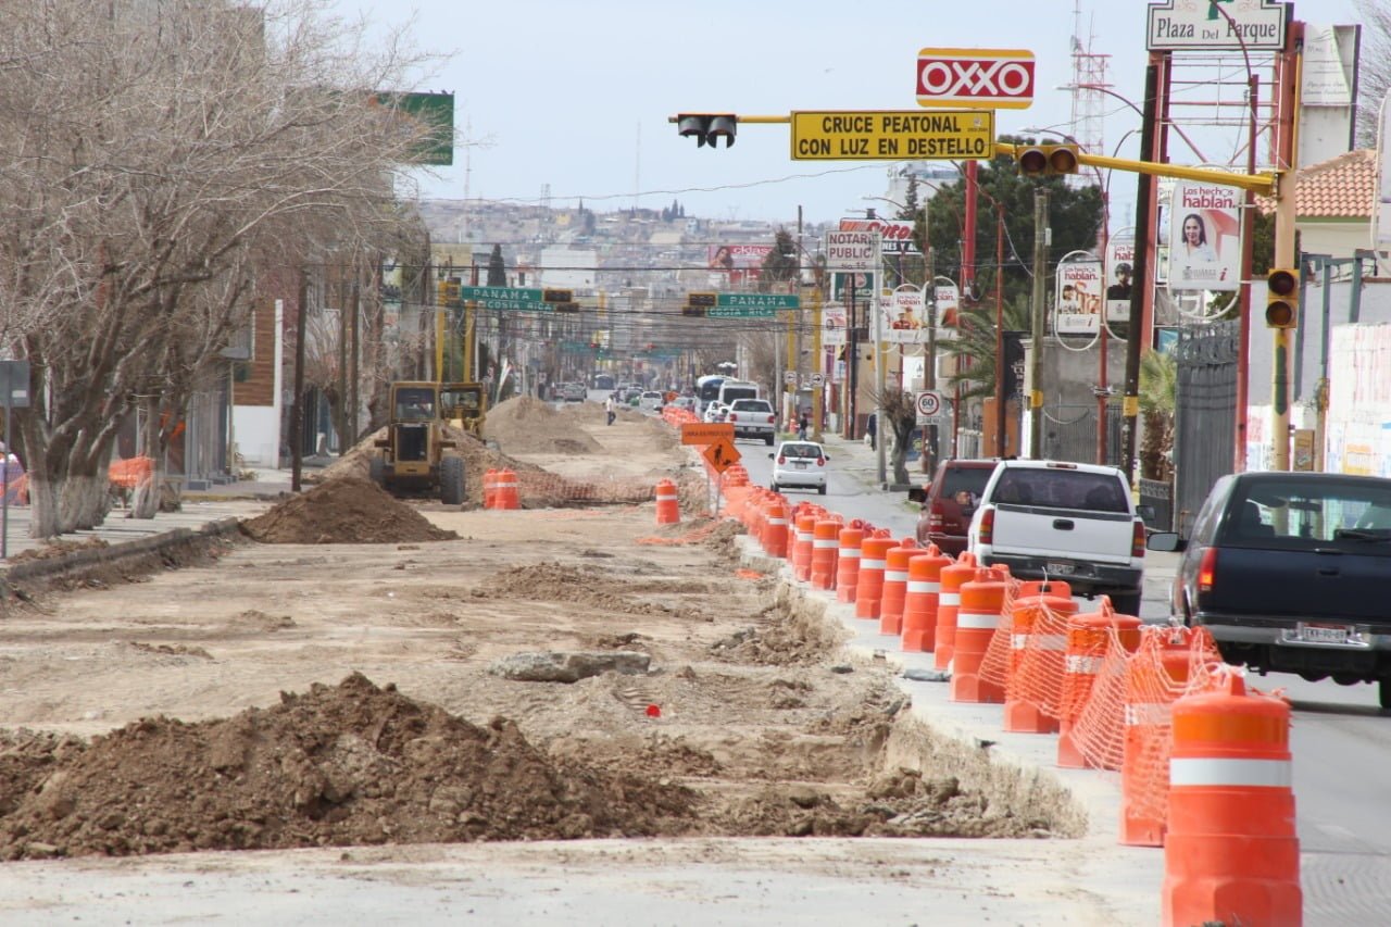
<svg viewBox="0 0 1391 927"><path fill-rule="evenodd" d="M1241 50L1242 46L1248 52L1280 50L1285 47L1291 11L1291 4L1276 0L1152 3L1146 47L1150 52Z"/></svg>

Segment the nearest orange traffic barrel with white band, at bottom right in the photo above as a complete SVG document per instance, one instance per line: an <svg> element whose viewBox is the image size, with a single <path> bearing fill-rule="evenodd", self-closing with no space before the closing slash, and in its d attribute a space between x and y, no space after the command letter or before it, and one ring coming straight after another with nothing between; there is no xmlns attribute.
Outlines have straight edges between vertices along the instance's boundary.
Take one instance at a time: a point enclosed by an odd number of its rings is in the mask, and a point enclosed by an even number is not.
<svg viewBox="0 0 1391 927"><path fill-rule="evenodd" d="M1299 924L1289 706L1238 671L1174 702L1166 924Z"/></svg>

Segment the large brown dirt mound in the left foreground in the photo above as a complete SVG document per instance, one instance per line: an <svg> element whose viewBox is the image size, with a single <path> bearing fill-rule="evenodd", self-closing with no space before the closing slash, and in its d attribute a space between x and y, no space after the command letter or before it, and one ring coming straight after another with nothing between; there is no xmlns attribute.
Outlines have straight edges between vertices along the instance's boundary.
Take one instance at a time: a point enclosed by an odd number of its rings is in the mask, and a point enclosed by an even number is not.
<svg viewBox="0 0 1391 927"><path fill-rule="evenodd" d="M45 749L45 747L49 749ZM480 728L360 674L271 708L146 718L81 749L7 752L0 857L647 837L691 793L558 766L508 720Z"/></svg>

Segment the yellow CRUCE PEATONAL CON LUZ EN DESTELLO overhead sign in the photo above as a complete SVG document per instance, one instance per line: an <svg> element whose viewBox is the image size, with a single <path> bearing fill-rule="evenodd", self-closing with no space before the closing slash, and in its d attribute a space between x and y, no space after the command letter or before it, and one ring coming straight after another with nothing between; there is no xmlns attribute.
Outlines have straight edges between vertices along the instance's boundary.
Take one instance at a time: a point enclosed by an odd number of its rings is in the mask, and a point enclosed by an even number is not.
<svg viewBox="0 0 1391 927"><path fill-rule="evenodd" d="M995 154L995 113L832 110L791 114L794 161L982 160Z"/></svg>

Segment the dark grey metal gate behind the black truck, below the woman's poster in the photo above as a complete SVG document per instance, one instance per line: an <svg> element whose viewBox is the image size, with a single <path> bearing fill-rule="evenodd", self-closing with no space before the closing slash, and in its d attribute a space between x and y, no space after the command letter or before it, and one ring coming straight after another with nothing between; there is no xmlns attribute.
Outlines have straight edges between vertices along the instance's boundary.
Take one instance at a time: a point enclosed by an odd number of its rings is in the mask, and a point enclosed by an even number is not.
<svg viewBox="0 0 1391 927"><path fill-rule="evenodd" d="M1239 323L1220 322L1182 330L1174 349L1174 530L1185 537L1213 483L1234 469L1239 337Z"/></svg>

